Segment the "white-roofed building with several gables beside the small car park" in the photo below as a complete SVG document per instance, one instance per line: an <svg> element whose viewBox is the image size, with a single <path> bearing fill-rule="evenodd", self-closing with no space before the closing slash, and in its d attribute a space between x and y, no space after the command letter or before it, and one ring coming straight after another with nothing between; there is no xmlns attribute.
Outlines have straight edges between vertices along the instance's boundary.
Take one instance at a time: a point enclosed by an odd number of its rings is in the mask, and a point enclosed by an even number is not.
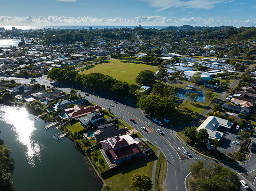
<svg viewBox="0 0 256 191"><path fill-rule="evenodd" d="M224 129L231 129L232 125L234 123L222 119L220 117L214 117L214 116L209 116L207 119L197 128L197 131L200 129L206 129L209 138L210 139L217 139L220 141L221 137L224 135L224 133L217 131L219 127L224 128Z"/></svg>

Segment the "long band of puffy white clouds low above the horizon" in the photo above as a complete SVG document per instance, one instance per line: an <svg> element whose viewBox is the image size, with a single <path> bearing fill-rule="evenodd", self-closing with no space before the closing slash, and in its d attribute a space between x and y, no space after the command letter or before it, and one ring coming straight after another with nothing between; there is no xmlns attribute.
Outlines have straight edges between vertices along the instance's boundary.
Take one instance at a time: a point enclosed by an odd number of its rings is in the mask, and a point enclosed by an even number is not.
<svg viewBox="0 0 256 191"><path fill-rule="evenodd" d="M0 16L0 24L119 24L119 25L197 25L197 26L216 26L216 25L234 25L234 26L252 26L256 24L256 19L247 20L219 20L220 18L176 18L176 17L160 17L160 16L139 16L132 19L123 18L97 18L97 17L64 17L64 16L48 16L38 18L34 16L27 17L11 17Z"/></svg>

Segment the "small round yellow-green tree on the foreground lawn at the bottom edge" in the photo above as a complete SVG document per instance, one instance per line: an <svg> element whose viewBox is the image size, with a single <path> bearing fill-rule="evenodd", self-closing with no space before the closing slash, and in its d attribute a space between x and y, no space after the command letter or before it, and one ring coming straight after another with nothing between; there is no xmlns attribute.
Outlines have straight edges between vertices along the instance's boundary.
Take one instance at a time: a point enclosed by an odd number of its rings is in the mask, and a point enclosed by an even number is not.
<svg viewBox="0 0 256 191"><path fill-rule="evenodd" d="M138 191L147 191L151 190L152 186L149 176L142 173L132 175L130 188L136 188Z"/></svg>

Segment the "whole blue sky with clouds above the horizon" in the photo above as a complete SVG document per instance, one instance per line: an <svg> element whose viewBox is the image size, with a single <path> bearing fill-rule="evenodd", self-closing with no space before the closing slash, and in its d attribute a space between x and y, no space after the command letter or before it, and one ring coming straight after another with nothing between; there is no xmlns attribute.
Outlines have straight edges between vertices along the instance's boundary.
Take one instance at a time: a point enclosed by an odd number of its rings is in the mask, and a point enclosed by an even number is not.
<svg viewBox="0 0 256 191"><path fill-rule="evenodd" d="M0 25L256 26L256 0L8 0Z"/></svg>

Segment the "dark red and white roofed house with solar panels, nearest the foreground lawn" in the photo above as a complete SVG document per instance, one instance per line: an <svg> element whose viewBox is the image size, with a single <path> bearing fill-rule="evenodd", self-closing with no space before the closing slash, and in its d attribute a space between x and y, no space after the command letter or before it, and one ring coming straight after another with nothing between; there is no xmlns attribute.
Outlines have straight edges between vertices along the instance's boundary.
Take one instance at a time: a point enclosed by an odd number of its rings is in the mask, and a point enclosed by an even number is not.
<svg viewBox="0 0 256 191"><path fill-rule="evenodd" d="M100 142L104 152L115 164L136 159L139 156L138 141L130 135L115 136Z"/></svg>

